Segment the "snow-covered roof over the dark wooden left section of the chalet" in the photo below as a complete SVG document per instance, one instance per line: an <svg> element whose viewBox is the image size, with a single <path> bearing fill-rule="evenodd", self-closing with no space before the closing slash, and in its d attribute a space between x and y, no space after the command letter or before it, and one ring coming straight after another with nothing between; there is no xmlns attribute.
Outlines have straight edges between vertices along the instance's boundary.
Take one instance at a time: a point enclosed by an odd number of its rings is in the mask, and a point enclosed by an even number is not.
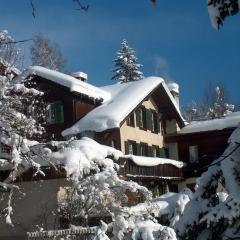
<svg viewBox="0 0 240 240"><path fill-rule="evenodd" d="M109 94L104 90L58 71L40 66L33 66L25 70L19 77L26 79L30 75L37 75L61 86L65 86L69 88L71 92L85 94L94 99L109 99Z"/></svg>

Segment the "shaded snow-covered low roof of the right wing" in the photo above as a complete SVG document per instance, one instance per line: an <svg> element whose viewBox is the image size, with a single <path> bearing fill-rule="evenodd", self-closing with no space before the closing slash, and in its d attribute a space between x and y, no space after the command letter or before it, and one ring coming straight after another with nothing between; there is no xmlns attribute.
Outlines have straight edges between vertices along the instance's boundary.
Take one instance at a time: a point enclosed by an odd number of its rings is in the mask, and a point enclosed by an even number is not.
<svg viewBox="0 0 240 240"><path fill-rule="evenodd" d="M240 126L240 112L234 112L223 118L191 122L183 127L178 134L222 130L238 126Z"/></svg>

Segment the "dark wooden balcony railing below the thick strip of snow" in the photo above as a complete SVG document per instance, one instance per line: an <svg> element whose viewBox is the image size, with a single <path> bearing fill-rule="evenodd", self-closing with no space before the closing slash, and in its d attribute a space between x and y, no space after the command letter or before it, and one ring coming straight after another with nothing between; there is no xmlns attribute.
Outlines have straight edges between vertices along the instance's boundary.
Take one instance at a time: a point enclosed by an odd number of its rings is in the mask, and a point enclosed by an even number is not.
<svg viewBox="0 0 240 240"><path fill-rule="evenodd" d="M138 166L131 159L119 159L119 175L126 177L183 179L183 169L171 164L159 164L153 167Z"/></svg>

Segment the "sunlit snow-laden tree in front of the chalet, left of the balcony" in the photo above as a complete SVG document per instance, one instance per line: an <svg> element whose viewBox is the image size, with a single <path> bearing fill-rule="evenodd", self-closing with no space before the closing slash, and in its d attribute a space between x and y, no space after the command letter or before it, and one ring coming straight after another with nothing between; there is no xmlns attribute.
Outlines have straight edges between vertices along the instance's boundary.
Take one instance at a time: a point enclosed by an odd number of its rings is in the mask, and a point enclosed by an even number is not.
<svg viewBox="0 0 240 240"><path fill-rule="evenodd" d="M176 240L174 230L159 224L154 218L151 193L145 187L117 175L120 167L117 160L121 152L89 138L60 143L58 149L57 152L48 151L47 158L63 164L73 182L73 187L66 189L65 199L59 206L59 216L68 223L66 227L73 227L72 224L87 226L91 216L108 216L110 223L102 222L95 239L109 239L107 232L111 239L116 240L137 240L140 236L150 240ZM139 211L143 209L141 206L128 207L129 192L145 200L146 211ZM161 206L166 205L164 202L155 210L163 212Z"/></svg>

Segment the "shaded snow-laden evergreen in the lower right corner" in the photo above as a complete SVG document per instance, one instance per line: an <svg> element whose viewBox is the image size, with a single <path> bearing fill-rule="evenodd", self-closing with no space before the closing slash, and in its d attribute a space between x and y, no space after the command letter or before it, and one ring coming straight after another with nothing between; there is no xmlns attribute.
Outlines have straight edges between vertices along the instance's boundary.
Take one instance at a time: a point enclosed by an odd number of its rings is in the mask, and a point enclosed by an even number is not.
<svg viewBox="0 0 240 240"><path fill-rule="evenodd" d="M198 180L193 199L176 224L184 240L240 238L240 129L229 138L229 147ZM218 193L221 184L225 193Z"/></svg>

